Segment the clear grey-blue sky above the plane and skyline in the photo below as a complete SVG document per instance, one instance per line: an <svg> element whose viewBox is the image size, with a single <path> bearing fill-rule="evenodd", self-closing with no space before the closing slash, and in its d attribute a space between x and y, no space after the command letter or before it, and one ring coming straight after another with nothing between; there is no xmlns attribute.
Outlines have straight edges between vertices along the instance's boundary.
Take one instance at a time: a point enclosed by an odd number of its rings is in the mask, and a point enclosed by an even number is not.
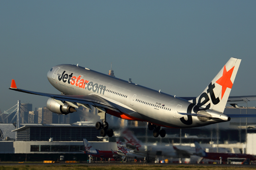
<svg viewBox="0 0 256 170"><path fill-rule="evenodd" d="M59 92L54 65L78 64L176 96L198 96L230 57L242 59L232 96L256 95L256 1L2 0L0 109ZM256 106L250 103L249 106Z"/></svg>

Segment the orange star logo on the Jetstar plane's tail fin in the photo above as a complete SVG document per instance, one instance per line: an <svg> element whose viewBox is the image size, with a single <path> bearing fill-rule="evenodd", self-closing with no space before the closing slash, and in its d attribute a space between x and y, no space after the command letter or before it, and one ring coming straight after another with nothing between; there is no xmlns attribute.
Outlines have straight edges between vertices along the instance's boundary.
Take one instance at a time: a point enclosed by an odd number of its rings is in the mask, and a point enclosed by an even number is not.
<svg viewBox="0 0 256 170"><path fill-rule="evenodd" d="M231 89L233 86L233 83L231 82L230 78L232 76L234 68L235 68L235 66L233 68L231 68L229 71L227 71L226 65L224 65L222 77L216 81L216 83L218 83L219 85L222 86L221 99L224 96L226 89L227 88Z"/></svg>

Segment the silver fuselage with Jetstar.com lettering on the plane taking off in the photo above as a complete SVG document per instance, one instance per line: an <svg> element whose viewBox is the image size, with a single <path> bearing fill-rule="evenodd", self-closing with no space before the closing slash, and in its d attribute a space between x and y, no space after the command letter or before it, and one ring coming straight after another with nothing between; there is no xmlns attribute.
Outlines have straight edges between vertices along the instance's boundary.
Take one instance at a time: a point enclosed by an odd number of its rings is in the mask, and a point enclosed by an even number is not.
<svg viewBox="0 0 256 170"><path fill-rule="evenodd" d="M123 109L124 114L107 113L128 120L151 122L163 127L198 127L218 123L202 121L194 113L191 102L152 90L122 79L111 77L76 65L57 65L47 74L49 82L63 94L97 95Z"/></svg>

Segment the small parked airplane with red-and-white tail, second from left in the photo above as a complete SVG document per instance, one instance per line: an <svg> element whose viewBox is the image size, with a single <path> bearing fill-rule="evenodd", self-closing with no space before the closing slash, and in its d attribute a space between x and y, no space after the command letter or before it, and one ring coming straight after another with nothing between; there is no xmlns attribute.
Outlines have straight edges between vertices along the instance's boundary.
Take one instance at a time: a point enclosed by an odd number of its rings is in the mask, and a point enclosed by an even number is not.
<svg viewBox="0 0 256 170"><path fill-rule="evenodd" d="M125 157L132 158L132 159L144 159L147 156L146 154L138 155L138 154L133 153L133 150L130 150L130 149L124 147L122 141L118 138L116 139L116 144L117 144L118 150L116 152L113 151L114 154L118 154L120 156L125 156Z"/></svg>

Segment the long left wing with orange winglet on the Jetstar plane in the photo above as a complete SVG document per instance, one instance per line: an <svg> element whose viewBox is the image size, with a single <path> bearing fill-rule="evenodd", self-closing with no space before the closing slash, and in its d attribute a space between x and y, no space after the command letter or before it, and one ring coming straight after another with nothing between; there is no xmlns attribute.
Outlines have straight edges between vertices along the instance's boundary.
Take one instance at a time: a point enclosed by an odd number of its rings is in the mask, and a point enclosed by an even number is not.
<svg viewBox="0 0 256 170"><path fill-rule="evenodd" d="M102 97L97 95L87 95L87 96L63 95L63 94L47 94L47 93L41 93L41 92L35 92L35 91L28 91L28 90L17 88L14 80L12 80L12 85L9 89L14 91L20 91L23 93L28 93L28 94L47 96L49 98L55 99L57 102L65 101L75 108L78 108L80 105L86 108L90 108L90 105L93 105L94 107L97 107L97 108L110 109L118 113L121 113L120 110L122 110L122 108L118 108L118 105L113 104L112 102L109 102L108 100L103 99ZM122 112L125 112L125 111L122 110Z"/></svg>

